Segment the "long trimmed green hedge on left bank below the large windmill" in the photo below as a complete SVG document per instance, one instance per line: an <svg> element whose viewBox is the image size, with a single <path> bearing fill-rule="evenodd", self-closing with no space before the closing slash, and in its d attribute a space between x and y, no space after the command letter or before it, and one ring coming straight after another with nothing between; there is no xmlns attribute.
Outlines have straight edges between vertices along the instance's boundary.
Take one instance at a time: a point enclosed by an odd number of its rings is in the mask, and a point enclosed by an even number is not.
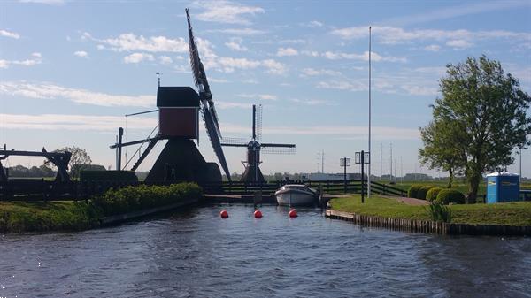
<svg viewBox="0 0 531 298"><path fill-rule="evenodd" d="M92 199L105 216L150 209L179 202L185 198L199 199L203 190L196 183L179 183L170 186L122 187L110 189Z"/></svg>

